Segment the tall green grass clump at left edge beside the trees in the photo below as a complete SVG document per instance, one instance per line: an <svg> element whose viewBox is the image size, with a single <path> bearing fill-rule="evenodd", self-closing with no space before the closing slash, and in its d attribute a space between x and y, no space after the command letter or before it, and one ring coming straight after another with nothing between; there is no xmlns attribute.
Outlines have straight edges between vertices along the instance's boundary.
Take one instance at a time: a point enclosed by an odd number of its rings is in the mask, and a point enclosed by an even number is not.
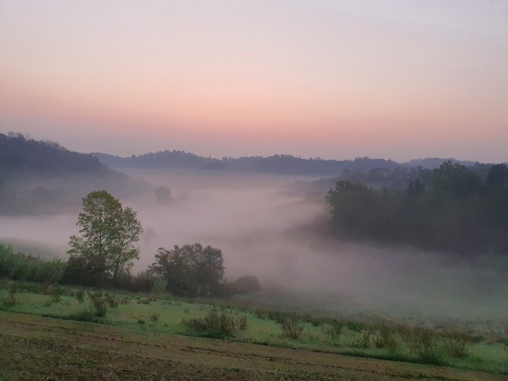
<svg viewBox="0 0 508 381"><path fill-rule="evenodd" d="M66 264L14 252L11 245L0 243L0 277L31 282L58 283Z"/></svg>

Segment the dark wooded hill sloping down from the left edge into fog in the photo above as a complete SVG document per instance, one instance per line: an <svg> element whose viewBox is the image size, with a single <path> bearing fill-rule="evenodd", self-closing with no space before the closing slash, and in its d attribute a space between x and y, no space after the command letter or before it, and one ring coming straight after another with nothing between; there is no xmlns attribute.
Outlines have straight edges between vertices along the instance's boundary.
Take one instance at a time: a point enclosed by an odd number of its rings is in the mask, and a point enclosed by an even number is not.
<svg viewBox="0 0 508 381"><path fill-rule="evenodd" d="M0 215L75 210L92 190L124 197L149 188L146 181L115 171L90 154L22 134L0 134Z"/></svg>

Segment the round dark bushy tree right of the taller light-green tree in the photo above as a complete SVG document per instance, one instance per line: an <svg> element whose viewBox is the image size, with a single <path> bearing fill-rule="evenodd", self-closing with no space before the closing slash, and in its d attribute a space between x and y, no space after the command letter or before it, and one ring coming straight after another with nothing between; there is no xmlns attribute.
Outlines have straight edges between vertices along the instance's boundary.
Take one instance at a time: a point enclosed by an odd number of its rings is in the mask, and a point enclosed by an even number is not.
<svg viewBox="0 0 508 381"><path fill-rule="evenodd" d="M218 296L225 280L222 251L200 243L160 247L150 270L167 281L168 292L179 296Z"/></svg>

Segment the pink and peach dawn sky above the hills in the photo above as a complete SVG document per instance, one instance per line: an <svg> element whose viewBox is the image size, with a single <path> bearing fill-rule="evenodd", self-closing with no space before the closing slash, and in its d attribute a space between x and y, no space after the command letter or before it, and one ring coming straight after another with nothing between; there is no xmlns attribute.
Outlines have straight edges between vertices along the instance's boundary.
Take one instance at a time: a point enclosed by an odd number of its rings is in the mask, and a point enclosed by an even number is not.
<svg viewBox="0 0 508 381"><path fill-rule="evenodd" d="M508 160L506 0L0 1L0 132L82 152Z"/></svg>

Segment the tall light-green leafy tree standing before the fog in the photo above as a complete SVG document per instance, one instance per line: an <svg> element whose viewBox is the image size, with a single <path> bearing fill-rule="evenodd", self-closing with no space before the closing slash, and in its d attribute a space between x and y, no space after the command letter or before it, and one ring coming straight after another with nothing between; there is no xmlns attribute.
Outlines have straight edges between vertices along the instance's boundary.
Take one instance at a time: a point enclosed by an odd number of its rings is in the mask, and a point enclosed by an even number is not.
<svg viewBox="0 0 508 381"><path fill-rule="evenodd" d="M83 266L80 276L90 283L104 283L110 278L128 272L133 260L139 259L139 248L134 243L143 232L136 212L122 209L120 201L106 190L92 192L83 198L83 212L77 224L81 237L70 237L69 271L72 264Z"/></svg>

